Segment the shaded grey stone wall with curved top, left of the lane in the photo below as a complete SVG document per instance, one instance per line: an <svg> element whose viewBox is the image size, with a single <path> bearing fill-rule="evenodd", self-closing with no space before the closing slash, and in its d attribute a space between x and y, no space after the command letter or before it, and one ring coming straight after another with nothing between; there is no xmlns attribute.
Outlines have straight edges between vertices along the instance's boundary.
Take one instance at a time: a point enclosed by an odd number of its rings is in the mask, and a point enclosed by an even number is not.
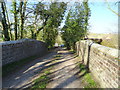
<svg viewBox="0 0 120 90"><path fill-rule="evenodd" d="M0 42L0 46L2 47L2 65L30 56L42 56L47 52L44 42L33 39Z"/></svg>

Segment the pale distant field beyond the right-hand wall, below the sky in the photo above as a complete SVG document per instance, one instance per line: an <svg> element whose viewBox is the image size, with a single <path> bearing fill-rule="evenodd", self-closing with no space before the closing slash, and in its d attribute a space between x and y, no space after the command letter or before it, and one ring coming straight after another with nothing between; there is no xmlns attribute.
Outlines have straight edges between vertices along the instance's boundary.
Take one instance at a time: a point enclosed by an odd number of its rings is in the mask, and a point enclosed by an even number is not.
<svg viewBox="0 0 120 90"><path fill-rule="evenodd" d="M88 35L88 38L101 38L103 41L101 45L111 47L111 48L116 48L120 49L118 47L118 42L120 42L120 39L118 39L118 34L96 34L96 33L90 33Z"/></svg>

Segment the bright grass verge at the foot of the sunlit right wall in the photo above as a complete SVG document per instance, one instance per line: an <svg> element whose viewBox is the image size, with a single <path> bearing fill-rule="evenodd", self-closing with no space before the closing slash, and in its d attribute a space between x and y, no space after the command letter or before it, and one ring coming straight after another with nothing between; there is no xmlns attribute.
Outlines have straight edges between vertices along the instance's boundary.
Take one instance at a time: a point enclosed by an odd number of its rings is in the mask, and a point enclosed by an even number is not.
<svg viewBox="0 0 120 90"><path fill-rule="evenodd" d="M86 73L82 78L84 88L98 88L98 83L92 78L91 73L87 73L86 66L83 64L79 65L81 70L80 74Z"/></svg>

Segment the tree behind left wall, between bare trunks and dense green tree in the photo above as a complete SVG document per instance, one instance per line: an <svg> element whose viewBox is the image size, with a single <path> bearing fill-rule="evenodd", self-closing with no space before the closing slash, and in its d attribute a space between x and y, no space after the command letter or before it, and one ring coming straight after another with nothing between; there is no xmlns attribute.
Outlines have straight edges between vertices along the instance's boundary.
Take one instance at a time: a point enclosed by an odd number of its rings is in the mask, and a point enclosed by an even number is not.
<svg viewBox="0 0 120 90"><path fill-rule="evenodd" d="M28 19L31 18L29 27L32 27L33 29L30 29L31 31L31 38L37 39L37 36L41 30L43 30L44 26L47 24L47 20L49 18L48 11L45 11L45 4L39 2L35 5L33 5L32 8L29 8L27 16L29 16ZM29 15L29 13L32 13Z"/></svg>

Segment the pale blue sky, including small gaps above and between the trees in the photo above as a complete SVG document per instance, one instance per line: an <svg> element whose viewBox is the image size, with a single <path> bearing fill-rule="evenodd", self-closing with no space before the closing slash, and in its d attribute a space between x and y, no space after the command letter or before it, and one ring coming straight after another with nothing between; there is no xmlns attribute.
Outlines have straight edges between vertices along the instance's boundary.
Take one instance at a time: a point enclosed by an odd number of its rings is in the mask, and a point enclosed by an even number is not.
<svg viewBox="0 0 120 90"><path fill-rule="evenodd" d="M6 0L11 2L12 0ZM51 1L51 0L28 0L29 2L35 1ZM53 0L52 0L53 1ZM58 1L58 0L57 0ZM73 5L75 1L80 2L83 0L59 0L64 2L70 2L69 5ZM88 0L91 10L91 17L89 19L89 32L92 33L117 33L118 32L118 16L108 9L108 4L111 9L118 12L118 4L115 2L119 0ZM64 20L60 27L64 26Z"/></svg>

